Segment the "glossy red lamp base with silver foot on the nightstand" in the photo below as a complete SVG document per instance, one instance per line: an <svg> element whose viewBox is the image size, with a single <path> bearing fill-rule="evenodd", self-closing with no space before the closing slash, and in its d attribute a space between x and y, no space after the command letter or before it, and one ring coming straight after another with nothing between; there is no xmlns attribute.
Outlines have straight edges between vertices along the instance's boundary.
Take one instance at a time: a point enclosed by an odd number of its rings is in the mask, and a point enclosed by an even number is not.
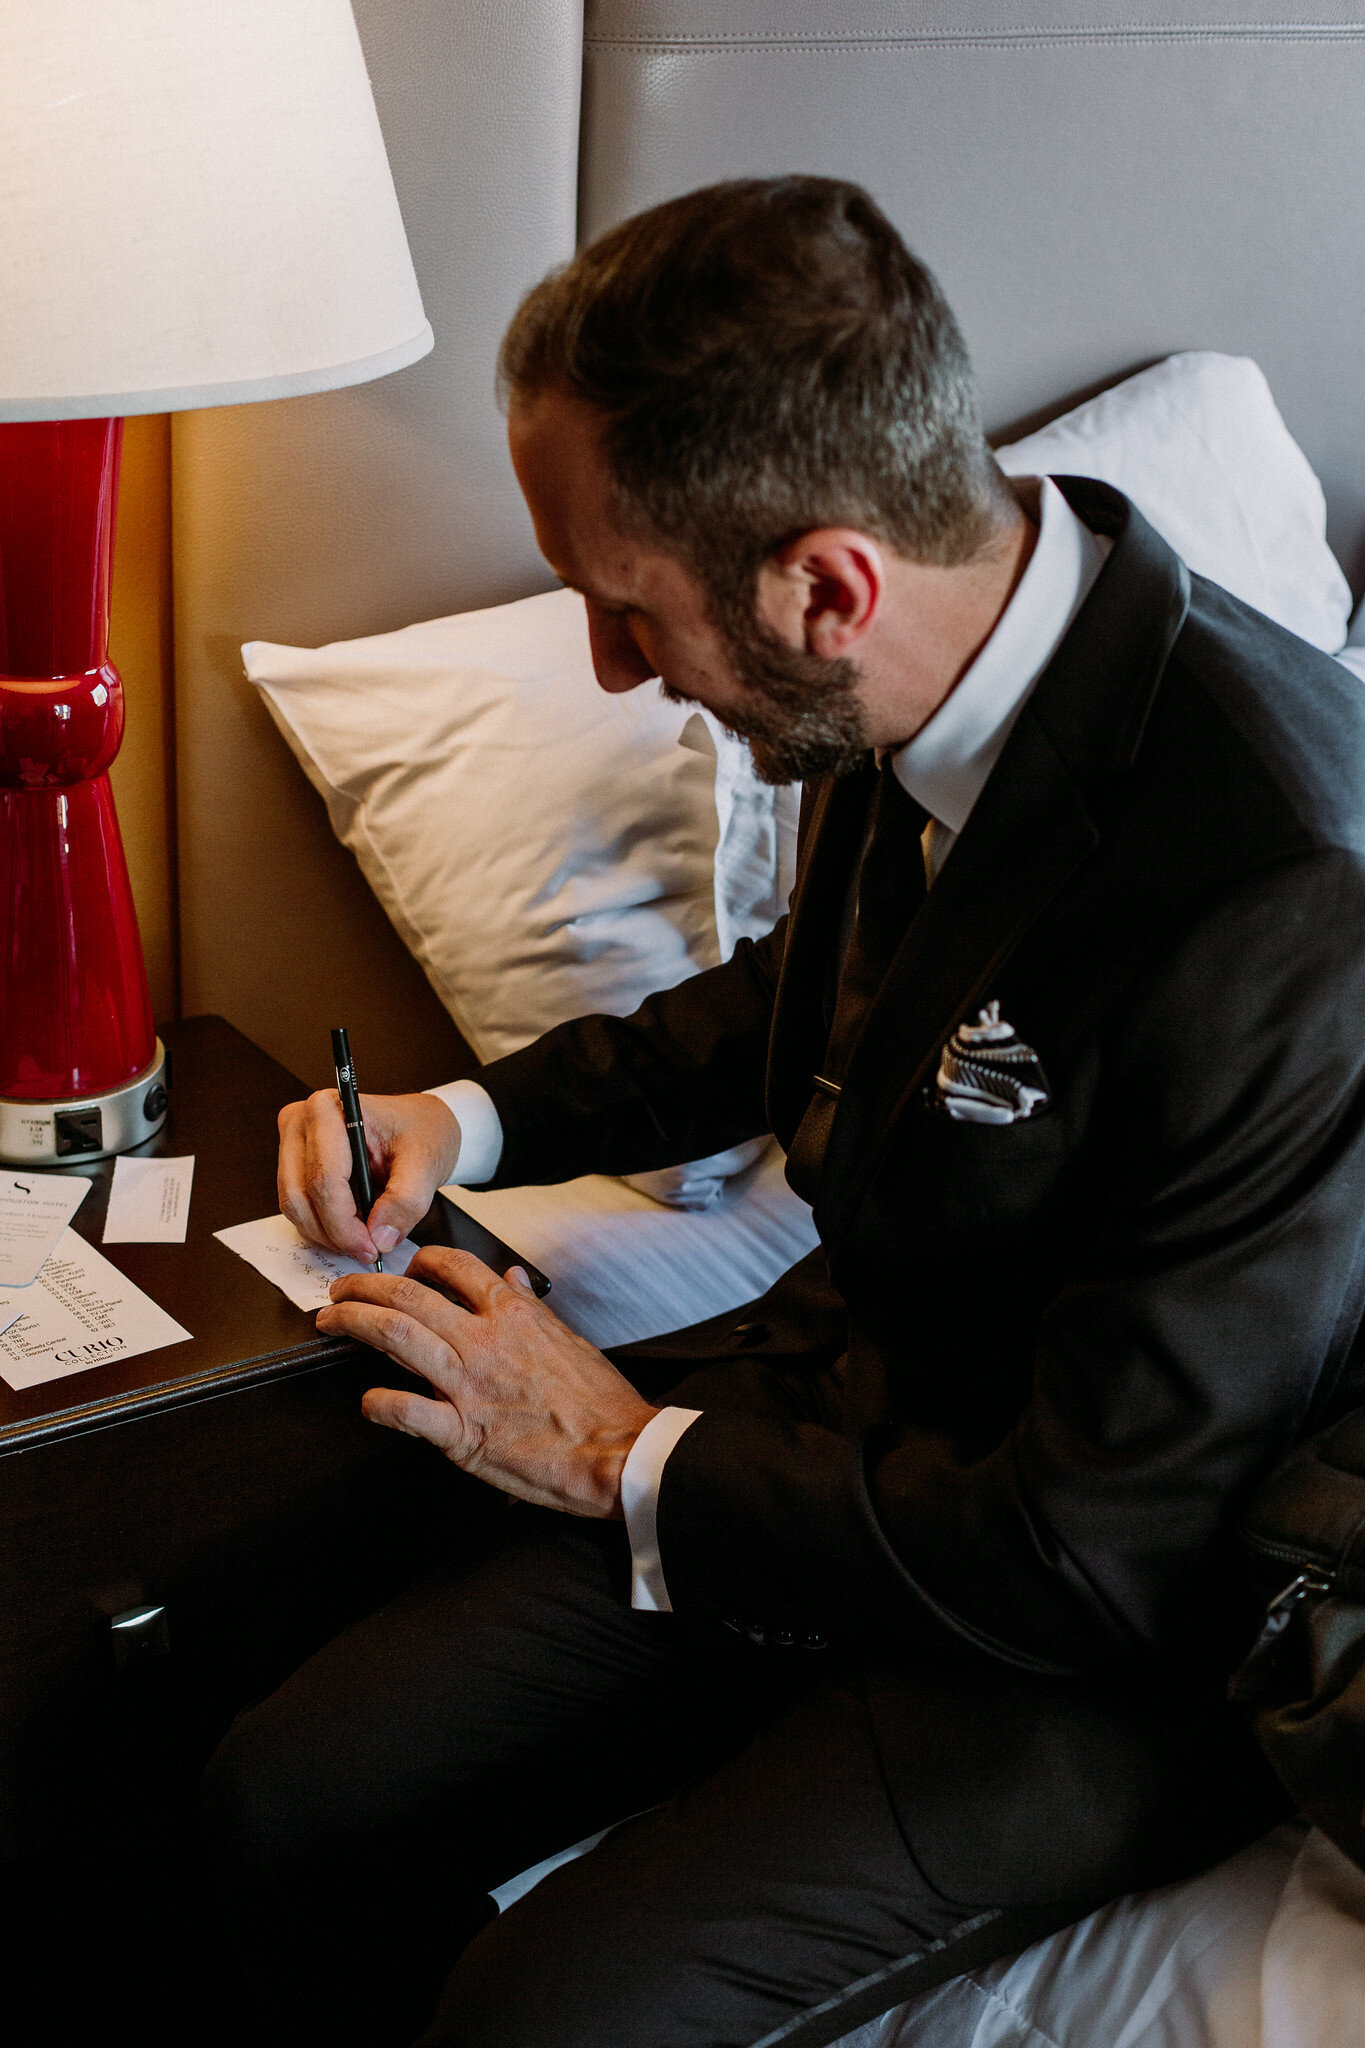
<svg viewBox="0 0 1365 2048"><path fill-rule="evenodd" d="M108 662L121 444L121 420L0 426L0 1157L27 1165L141 1143L166 1114L108 786L123 739ZM160 1098L160 1112L106 1112L125 1096ZM18 1145L25 1104L33 1139Z"/></svg>

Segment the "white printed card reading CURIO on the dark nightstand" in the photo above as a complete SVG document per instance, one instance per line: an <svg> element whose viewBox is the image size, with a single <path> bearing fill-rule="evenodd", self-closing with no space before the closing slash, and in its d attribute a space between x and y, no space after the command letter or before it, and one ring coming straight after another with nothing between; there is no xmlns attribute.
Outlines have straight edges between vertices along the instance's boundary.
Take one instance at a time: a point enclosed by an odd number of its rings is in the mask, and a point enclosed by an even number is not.
<svg viewBox="0 0 1365 2048"><path fill-rule="evenodd" d="M14 1389L188 1337L76 1231L65 1231L33 1286L0 1290L0 1378Z"/></svg>

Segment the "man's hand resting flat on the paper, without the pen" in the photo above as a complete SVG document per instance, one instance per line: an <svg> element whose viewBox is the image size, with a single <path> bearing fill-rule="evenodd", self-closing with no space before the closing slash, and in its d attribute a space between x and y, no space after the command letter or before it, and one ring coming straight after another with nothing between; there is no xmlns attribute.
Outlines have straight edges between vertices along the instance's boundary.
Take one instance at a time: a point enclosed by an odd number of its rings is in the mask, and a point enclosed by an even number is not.
<svg viewBox="0 0 1365 2048"><path fill-rule="evenodd" d="M428 1245L405 1276L334 1280L317 1327L370 1343L430 1382L434 1399L372 1386L362 1401L370 1421L424 1436L522 1501L620 1518L630 1446L659 1411L536 1300L518 1266L499 1280L471 1251Z"/></svg>

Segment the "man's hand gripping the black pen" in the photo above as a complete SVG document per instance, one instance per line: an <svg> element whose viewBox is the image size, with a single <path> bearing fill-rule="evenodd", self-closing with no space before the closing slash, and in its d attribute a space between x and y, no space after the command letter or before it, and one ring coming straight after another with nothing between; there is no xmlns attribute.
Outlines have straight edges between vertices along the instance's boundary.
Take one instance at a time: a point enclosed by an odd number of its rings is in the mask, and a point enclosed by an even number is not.
<svg viewBox="0 0 1365 2048"><path fill-rule="evenodd" d="M440 1096L360 1096L370 1178L368 1217L350 1192L350 1139L336 1087L280 1110L280 1212L315 1245L372 1266L420 1223L460 1155L460 1126Z"/></svg>

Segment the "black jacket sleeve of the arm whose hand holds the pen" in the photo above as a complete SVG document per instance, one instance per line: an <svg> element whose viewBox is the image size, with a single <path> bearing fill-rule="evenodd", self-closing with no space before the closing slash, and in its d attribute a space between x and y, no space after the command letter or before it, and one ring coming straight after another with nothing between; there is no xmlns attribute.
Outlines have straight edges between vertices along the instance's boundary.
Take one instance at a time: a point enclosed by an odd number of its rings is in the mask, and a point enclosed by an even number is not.
<svg viewBox="0 0 1365 2048"><path fill-rule="evenodd" d="M786 918L634 1016L577 1018L483 1067L503 1126L489 1186L681 1165L767 1130L763 1083Z"/></svg>

